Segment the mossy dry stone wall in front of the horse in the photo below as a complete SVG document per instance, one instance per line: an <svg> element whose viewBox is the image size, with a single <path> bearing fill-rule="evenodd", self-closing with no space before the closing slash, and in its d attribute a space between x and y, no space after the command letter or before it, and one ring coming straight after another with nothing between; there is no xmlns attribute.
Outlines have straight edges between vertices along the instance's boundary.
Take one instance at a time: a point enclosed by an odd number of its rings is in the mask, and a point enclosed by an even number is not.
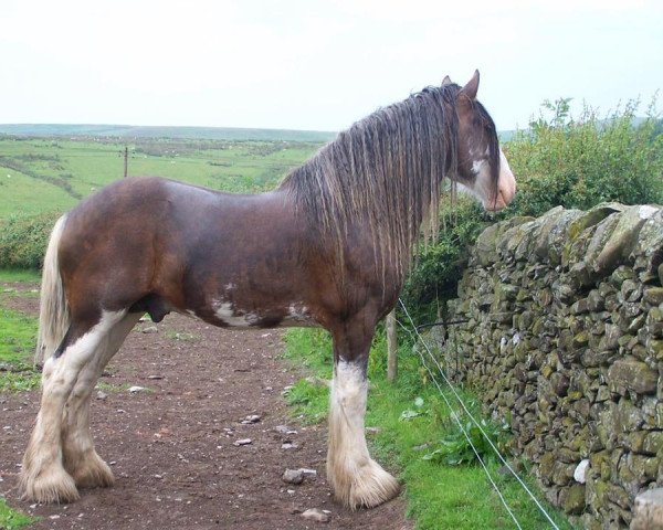
<svg viewBox="0 0 663 530"><path fill-rule="evenodd" d="M663 209L556 208L488 227L449 303L448 371L586 528L663 485ZM440 341L442 343L442 341Z"/></svg>

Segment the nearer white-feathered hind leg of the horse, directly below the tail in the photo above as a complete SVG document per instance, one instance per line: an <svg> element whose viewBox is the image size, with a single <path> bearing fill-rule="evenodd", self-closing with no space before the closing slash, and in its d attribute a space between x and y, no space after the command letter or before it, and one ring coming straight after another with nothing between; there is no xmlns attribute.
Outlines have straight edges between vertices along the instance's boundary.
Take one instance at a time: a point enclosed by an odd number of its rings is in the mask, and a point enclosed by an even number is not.
<svg viewBox="0 0 663 530"><path fill-rule="evenodd" d="M41 406L20 476L23 498L39 502L69 502L78 498L74 479L63 467L64 407L78 375L95 362L99 344L124 316L125 311L104 311L92 326L73 318L62 347L44 362Z"/></svg>

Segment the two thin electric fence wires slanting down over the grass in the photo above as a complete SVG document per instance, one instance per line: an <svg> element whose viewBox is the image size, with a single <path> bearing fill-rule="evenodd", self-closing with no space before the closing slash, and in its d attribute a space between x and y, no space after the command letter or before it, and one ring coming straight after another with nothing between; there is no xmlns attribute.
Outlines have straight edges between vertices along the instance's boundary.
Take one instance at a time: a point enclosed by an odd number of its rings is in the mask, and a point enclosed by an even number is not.
<svg viewBox="0 0 663 530"><path fill-rule="evenodd" d="M488 443L488 445L492 447L492 449L495 452L495 454L497 455L497 457L499 458L499 460L502 462L502 464L504 464L504 466L508 469L508 471L514 476L514 478L518 481L518 484L523 487L523 489L527 492L527 495L532 498L532 500L535 502L535 505L537 506L537 508L539 509L539 511L544 515L544 517L548 520L548 522L550 523L550 526L555 529L555 530L559 530L559 527L555 523L555 521L550 518L550 516L548 515L548 512L546 511L546 509L541 506L541 504L539 502L539 500L535 497L535 495L532 492L532 490L527 487L527 485L525 484L525 481L518 476L518 474L514 470L514 468L506 462L506 459L504 458L504 456L502 456L502 453L499 452L499 449L495 446L495 444L493 443L493 441L491 439L491 437L485 433L485 431L483 430L483 427L481 426L481 423L476 421L476 418L472 415L472 413L470 412L469 407L465 405L465 402L463 401L463 399L459 395L459 393L456 392L455 388L453 386L453 384L451 383L451 381L449 381L449 379L446 378L446 374L444 373L444 370L442 369L442 367L440 365L440 363L438 362L438 360L435 359L435 356L433 354L433 352L430 350L429 346L427 344L427 342L423 340L423 337L421 337L421 333L419 332L419 330L417 329L417 326L414 326L414 321L412 320L412 317L410 316L410 312L408 311L408 308L406 307L406 305L403 304L403 300L401 300L399 298L399 304L401 306L401 308L403 309L403 312L406 314L406 316L408 317L408 320L410 321L410 325L412 326L412 329L414 330L414 333L417 336L414 336L402 322L400 322L397 319L397 322L399 324L399 326L401 328L403 328L412 338L412 340L417 341L419 340L422 344L423 348L425 349L425 351L428 352L429 357L432 359L433 363L438 367L438 371L440 372L440 375L442 377L442 379L444 380L444 382L446 383L446 385L450 388L450 390L452 391L452 393L454 394L455 399L457 400L457 402L460 403L460 405L463 407L463 410L465 411L465 414L467 414L467 416L470 416L470 418L472 420L472 423L474 423L474 425L476 425L476 427L478 428L478 431L481 432L482 436L486 439L486 442ZM506 499L504 498L504 496L502 495L502 491L499 491L499 488L497 487L497 485L495 484L495 481L493 480L493 477L491 476L491 473L488 471L488 468L486 467L486 465L484 464L483 459L480 457L478 452L476 451L476 447L474 446L474 444L472 443L472 439L470 438L470 435L466 433L465 428L463 427L463 425L461 424L461 421L459 418L459 414L454 411L454 409L451 406L451 403L449 402L449 399L446 398L446 395L444 394L444 392L442 391L442 388L440 386L440 384L438 383L434 374L432 373L432 371L430 370L428 363L425 362L425 359L423 357L423 353L421 352L421 350L417 350L417 352L419 353L419 357L421 358L421 362L423 364L423 367L425 368L425 370L429 372L431 380L435 383L435 386L438 388L438 390L440 391L440 394L442 395L442 399L444 400L444 402L446 403L446 406L449 407L449 410L451 411L451 415L452 417L455 420L456 424L459 425L459 428L461 430L461 432L463 433L463 435L465 436L465 438L467 439L467 443L470 444L470 446L472 447L472 451L474 452L474 454L476 455L476 458L478 459L478 462L481 463L484 471L486 473L486 476L488 477L488 480L491 481L491 484L493 485L493 488L495 489L495 491L497 492L497 496L499 497L499 500L502 501L502 504L504 505L504 507L506 508L506 511L509 513L509 516L512 517L512 519L514 520L516 527L518 529L522 529L520 524L518 523L515 515L513 513L513 511L511 510L511 508L508 507L508 505L506 504Z"/></svg>

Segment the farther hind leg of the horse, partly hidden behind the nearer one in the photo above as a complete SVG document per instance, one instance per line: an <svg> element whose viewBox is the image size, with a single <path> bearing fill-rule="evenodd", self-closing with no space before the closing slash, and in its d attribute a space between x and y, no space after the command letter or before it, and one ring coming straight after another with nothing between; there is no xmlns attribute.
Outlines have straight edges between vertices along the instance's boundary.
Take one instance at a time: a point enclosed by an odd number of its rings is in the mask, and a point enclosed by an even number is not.
<svg viewBox="0 0 663 530"><path fill-rule="evenodd" d="M64 468L80 488L113 486L113 471L94 448L90 432L90 401L104 368L139 318L140 314L129 314L108 331L94 360L78 374L66 403L62 431Z"/></svg>

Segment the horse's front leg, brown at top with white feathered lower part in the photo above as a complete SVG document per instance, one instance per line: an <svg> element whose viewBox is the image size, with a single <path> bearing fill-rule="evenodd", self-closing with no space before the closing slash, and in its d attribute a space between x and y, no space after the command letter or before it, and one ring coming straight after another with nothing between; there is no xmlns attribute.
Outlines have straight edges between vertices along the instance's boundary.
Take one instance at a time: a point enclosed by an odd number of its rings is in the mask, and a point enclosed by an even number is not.
<svg viewBox="0 0 663 530"><path fill-rule="evenodd" d="M345 506L373 507L398 495L398 481L368 454L364 428L368 352L375 328L343 326L334 336L327 478Z"/></svg>

